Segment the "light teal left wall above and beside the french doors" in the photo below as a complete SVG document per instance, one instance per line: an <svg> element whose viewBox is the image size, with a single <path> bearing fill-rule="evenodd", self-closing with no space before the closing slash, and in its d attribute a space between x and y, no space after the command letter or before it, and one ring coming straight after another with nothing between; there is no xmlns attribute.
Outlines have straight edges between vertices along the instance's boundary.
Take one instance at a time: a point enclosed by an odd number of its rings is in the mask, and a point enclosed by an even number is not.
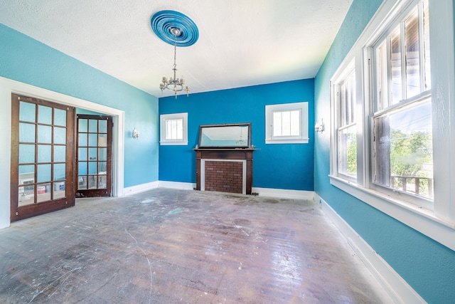
<svg viewBox="0 0 455 304"><path fill-rule="evenodd" d="M1 23L0 76L123 110L124 187L158 180L158 98Z"/></svg>

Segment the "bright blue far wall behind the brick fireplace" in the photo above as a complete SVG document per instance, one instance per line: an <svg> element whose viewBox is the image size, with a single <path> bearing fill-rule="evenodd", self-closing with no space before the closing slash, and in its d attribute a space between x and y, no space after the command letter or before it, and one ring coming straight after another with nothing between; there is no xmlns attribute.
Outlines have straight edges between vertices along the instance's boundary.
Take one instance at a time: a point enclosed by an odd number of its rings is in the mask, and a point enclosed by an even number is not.
<svg viewBox="0 0 455 304"><path fill-rule="evenodd" d="M265 105L309 103L309 143L265 145ZM313 191L314 80L159 99L159 113L188 112L188 146L159 147L159 180L196 183L199 125L252 123L253 187Z"/></svg>

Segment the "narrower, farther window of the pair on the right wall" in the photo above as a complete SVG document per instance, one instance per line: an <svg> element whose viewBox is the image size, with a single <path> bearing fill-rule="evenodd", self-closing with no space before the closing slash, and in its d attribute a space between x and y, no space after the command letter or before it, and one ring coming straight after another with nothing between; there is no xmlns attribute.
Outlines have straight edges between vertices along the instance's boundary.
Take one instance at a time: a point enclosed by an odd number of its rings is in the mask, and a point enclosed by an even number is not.
<svg viewBox="0 0 455 304"><path fill-rule="evenodd" d="M357 179L357 124L355 122L354 62L341 69L333 84L333 110L336 130L336 175Z"/></svg>

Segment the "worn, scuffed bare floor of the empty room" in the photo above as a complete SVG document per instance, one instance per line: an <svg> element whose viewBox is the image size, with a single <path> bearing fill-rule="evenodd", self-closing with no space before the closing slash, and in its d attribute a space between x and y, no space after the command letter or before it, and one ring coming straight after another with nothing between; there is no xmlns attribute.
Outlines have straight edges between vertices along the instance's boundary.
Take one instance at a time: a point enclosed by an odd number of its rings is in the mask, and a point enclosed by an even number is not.
<svg viewBox="0 0 455 304"><path fill-rule="evenodd" d="M314 201L154 189L0 230L0 303L390 303Z"/></svg>

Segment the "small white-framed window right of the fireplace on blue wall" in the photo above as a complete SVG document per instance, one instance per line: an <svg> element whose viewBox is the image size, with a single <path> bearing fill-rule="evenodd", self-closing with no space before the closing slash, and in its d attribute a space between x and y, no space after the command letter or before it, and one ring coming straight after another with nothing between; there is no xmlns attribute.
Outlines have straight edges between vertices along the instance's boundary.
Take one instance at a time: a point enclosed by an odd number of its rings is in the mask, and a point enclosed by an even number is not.
<svg viewBox="0 0 455 304"><path fill-rule="evenodd" d="M267 144L308 143L308 103L265 106Z"/></svg>

